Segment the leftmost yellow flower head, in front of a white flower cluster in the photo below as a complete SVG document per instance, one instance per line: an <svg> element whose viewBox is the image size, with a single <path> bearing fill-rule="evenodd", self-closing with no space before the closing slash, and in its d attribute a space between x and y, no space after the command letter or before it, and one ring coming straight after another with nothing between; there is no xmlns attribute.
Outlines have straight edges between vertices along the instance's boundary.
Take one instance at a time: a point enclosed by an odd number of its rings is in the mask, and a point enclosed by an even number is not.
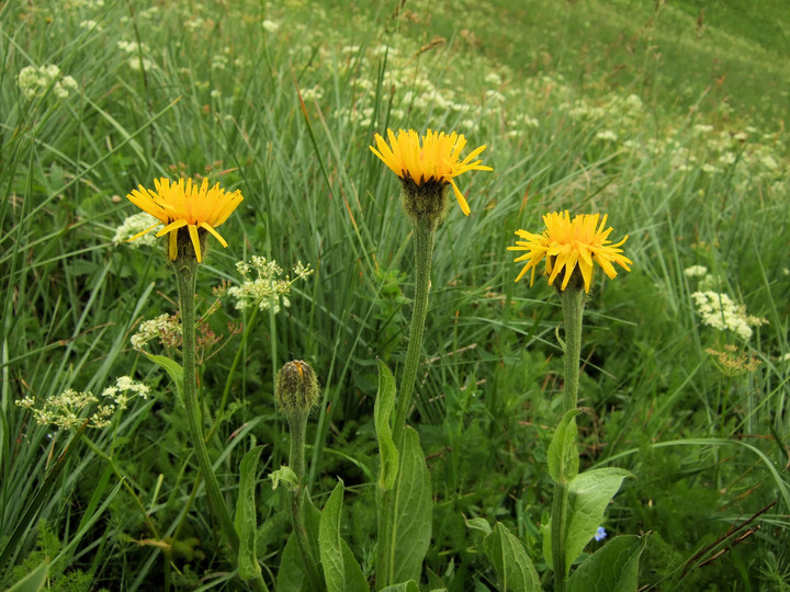
<svg viewBox="0 0 790 592"><path fill-rule="evenodd" d="M241 203L241 192L236 190L233 193L219 189L219 183L208 189L208 180L203 179L200 187L192 183L191 179L179 179L177 183L170 183L169 179L161 178L154 181L156 191L139 185L126 195L129 202L158 218L165 228L157 232L157 237L170 234L170 260L174 261L178 254L178 231L187 227L190 239L194 246L195 258L201 261L201 246L198 229L202 228L227 247L225 239L215 230L217 226L227 220L228 216ZM142 237L154 228L135 235L129 240Z"/></svg>

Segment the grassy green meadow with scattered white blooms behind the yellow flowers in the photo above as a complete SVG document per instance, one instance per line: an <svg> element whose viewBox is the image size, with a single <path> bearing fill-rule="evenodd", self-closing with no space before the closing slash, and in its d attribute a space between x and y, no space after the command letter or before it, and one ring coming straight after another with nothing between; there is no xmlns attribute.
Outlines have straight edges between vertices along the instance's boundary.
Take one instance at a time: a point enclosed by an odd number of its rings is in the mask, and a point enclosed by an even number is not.
<svg viewBox="0 0 790 592"><path fill-rule="evenodd" d="M125 195L160 175L245 195L201 266L199 311L242 282L237 261L315 270L279 311L222 297L199 367L229 501L266 445L264 578L291 531L266 475L287 459L272 392L293 358L323 386L313 497L345 480L343 537L371 574L375 360L399 376L413 251L368 146L430 127L487 144L495 172L460 179L473 214L453 207L437 235L411 417L436 502L424 583L497 589L464 516L504 522L545 569L561 310L544 282L514 283L506 248L567 208L608 213L634 261L598 275L585 316L583 465L635 476L602 526L651 533L645 590L790 590L785 0L7 1L0 26L1 588L45 556L54 590L239 585L172 385L131 344L177 309L160 247L116 237L136 214ZM766 322L748 338L707 325L698 291ZM72 447L74 430L15 403L126 375L150 396Z"/></svg>

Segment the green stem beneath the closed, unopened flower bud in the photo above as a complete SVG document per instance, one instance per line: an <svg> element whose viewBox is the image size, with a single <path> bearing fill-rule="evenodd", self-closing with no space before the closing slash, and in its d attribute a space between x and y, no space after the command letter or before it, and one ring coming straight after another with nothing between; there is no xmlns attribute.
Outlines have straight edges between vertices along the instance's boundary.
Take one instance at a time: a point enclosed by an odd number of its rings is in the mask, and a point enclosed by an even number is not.
<svg viewBox="0 0 790 592"><path fill-rule="evenodd" d="M291 505L291 516L293 519L293 530L296 535L302 560L307 571L307 578L311 582L311 590L324 590L324 580L318 572L318 558L315 555L316 542L312 540L311 533L307 530L304 510L304 443L305 432L307 430L307 417L309 411L294 409L287 413L289 425L291 429L291 454L289 456L289 465L291 470L296 474L298 479L298 488L295 491L289 491L289 503Z"/></svg>

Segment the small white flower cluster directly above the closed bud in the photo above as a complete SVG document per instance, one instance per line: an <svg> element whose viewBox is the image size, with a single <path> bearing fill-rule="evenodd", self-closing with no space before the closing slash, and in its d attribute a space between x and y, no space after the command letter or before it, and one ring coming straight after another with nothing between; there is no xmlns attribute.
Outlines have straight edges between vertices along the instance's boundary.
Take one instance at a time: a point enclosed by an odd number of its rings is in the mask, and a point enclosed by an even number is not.
<svg viewBox="0 0 790 592"><path fill-rule="evenodd" d="M228 294L236 298L236 309L244 310L247 307L258 307L260 310L271 308L275 314L280 312L280 298L283 306L291 306L289 294L291 286L297 280L306 280L313 273L309 265L297 262L293 269L294 277L285 276L281 280L282 267L276 261L267 261L266 258L253 255L250 262L239 261L236 269L244 276L245 281L240 286L228 289ZM257 277L250 277L252 270Z"/></svg>

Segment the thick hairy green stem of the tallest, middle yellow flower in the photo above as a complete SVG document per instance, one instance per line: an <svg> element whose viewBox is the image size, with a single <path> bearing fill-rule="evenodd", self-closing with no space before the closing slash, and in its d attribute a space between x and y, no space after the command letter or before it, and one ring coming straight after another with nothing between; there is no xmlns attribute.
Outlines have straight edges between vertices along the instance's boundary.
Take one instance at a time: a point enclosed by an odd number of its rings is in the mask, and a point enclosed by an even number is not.
<svg viewBox="0 0 790 592"><path fill-rule="evenodd" d="M422 332L428 315L428 292L430 289L430 270L433 255L433 236L436 220L416 221L414 224L415 247L415 298L411 311L411 331L406 350L406 365L400 378L393 440L398 451L403 451L406 433L406 420L411 405L411 394L417 378L417 367L422 350ZM393 521L395 520L392 490L379 493L379 537L376 548L376 590L397 583L392 581L395 561L393 540Z"/></svg>

